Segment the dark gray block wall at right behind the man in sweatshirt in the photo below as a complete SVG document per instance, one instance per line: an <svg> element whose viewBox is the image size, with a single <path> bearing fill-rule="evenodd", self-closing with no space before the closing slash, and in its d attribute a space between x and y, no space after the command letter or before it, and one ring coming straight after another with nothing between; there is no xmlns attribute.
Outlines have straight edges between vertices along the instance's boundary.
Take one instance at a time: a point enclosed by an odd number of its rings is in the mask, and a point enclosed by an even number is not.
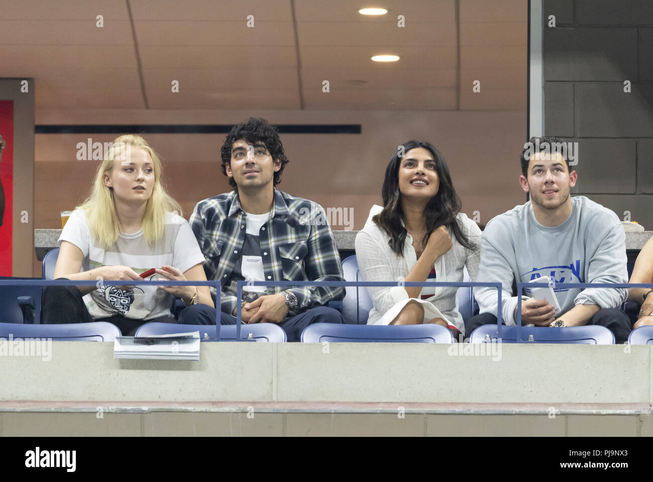
<svg viewBox="0 0 653 482"><path fill-rule="evenodd" d="M545 134L579 143L573 194L653 230L653 1L545 0L543 16Z"/></svg>

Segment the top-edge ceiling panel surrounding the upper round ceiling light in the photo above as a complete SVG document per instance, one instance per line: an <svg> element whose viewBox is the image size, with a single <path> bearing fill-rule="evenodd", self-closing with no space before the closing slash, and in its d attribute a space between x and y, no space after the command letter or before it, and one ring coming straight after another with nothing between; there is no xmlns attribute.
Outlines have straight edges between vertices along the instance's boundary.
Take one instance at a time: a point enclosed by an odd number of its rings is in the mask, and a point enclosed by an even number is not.
<svg viewBox="0 0 653 482"><path fill-rule="evenodd" d="M379 16L361 15L365 7L386 8L388 13ZM454 0L295 0L297 22L391 22L404 15L406 27L417 22L451 22L455 20Z"/></svg>

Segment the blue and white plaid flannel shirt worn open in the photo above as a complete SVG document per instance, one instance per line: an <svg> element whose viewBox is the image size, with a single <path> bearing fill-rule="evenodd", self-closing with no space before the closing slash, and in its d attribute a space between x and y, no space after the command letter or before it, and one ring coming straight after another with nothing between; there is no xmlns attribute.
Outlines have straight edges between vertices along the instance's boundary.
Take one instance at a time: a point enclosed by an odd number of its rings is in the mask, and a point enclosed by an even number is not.
<svg viewBox="0 0 653 482"><path fill-rule="evenodd" d="M236 296L225 291L225 284L241 256L238 253L245 241L247 226L238 192L234 190L200 201L193 210L190 224L206 260L206 279L221 281L221 310L232 314ZM317 203L275 189L270 219L259 231L259 243L264 277L268 280L345 280L327 216ZM274 286L274 291L268 289L268 294L286 289ZM215 288L211 290L215 295ZM298 301L297 309L289 312L290 316L344 296L339 286L302 286L290 288L290 291Z"/></svg>

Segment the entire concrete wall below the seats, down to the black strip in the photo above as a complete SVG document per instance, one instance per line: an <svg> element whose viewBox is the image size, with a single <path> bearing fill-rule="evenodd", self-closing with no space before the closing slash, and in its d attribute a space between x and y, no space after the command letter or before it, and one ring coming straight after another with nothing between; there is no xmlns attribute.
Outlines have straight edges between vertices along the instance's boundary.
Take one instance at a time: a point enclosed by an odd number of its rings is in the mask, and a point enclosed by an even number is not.
<svg viewBox="0 0 653 482"><path fill-rule="evenodd" d="M474 348L206 342L194 362L52 342L2 357L0 434L653 434L651 346Z"/></svg>

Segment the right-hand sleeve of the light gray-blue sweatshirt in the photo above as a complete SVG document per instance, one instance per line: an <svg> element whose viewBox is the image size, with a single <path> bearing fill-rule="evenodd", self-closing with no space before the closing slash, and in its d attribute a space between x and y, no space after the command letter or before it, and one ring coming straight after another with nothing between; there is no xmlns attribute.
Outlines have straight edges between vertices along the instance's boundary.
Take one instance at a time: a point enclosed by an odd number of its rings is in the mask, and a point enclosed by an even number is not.
<svg viewBox="0 0 653 482"><path fill-rule="evenodd" d="M612 224L589 260L588 283L627 283L628 257L626 232L621 224ZM626 298L626 288L586 288L574 299L576 305L618 308Z"/></svg>

